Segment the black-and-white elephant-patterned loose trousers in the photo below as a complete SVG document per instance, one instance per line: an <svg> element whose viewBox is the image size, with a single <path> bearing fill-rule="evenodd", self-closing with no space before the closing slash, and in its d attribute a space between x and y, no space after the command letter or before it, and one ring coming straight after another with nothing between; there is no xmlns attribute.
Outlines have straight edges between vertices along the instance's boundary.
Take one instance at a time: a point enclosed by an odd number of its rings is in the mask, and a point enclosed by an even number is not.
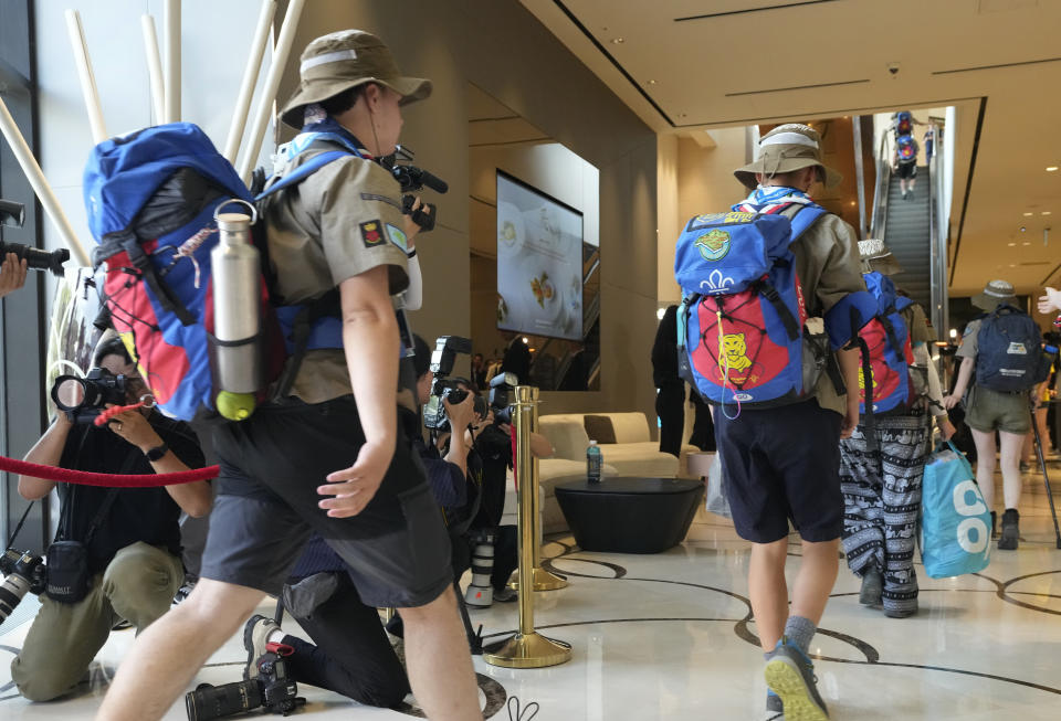
<svg viewBox="0 0 1061 721"><path fill-rule="evenodd" d="M840 442L843 551L855 575L881 572L885 609L917 608L914 544L929 428L926 415L884 416L878 448L866 447L862 425Z"/></svg>

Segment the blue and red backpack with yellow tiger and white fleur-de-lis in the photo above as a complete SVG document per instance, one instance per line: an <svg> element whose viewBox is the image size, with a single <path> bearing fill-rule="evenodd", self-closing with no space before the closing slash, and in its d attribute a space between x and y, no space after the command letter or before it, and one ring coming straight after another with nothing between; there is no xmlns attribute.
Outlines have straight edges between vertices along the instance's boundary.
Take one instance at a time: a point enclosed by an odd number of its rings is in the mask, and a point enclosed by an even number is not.
<svg viewBox="0 0 1061 721"><path fill-rule="evenodd" d="M705 401L771 407L809 397L822 371L841 383L828 324L807 328L790 250L824 213L813 203L744 203L686 223L674 261L684 296L679 374Z"/></svg>

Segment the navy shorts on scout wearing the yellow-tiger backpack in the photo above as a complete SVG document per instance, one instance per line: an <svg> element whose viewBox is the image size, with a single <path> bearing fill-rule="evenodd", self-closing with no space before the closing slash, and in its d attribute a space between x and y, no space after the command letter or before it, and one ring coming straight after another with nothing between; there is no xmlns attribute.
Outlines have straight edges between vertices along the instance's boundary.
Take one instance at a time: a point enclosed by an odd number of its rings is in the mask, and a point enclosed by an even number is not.
<svg viewBox="0 0 1061 721"><path fill-rule="evenodd" d="M740 538L779 541L789 520L805 541L840 538L841 421L817 401L745 410L736 420L715 415L725 491Z"/></svg>

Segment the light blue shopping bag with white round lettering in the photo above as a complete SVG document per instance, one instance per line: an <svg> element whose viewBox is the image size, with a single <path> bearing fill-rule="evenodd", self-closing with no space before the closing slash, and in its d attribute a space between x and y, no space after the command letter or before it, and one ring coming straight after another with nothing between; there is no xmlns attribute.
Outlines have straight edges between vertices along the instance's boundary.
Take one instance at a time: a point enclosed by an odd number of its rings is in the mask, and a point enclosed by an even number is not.
<svg viewBox="0 0 1061 721"><path fill-rule="evenodd" d="M933 579L977 573L991 561L991 513L973 466L949 441L925 465L921 560Z"/></svg>

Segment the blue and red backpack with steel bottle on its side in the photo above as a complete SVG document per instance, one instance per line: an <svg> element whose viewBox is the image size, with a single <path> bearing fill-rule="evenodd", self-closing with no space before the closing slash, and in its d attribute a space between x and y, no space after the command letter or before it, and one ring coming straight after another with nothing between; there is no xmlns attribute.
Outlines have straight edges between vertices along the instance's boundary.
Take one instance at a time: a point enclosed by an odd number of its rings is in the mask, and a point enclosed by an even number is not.
<svg viewBox="0 0 1061 721"><path fill-rule="evenodd" d="M252 203L307 178L346 151L322 152L273 182L256 199L207 135L190 123L146 128L97 145L84 173L94 283L156 404L166 415L190 421L213 412L219 389L211 370L214 346L210 252L218 244L214 212L233 200ZM322 319L337 312L335 298L273 308L267 256L261 229L262 340L267 357L264 381L284 368L288 354L301 360L307 348L342 347L342 337L302 339L319 333ZM338 319L334 319L334 327ZM280 339L283 342L280 342ZM294 363L294 369L297 362Z"/></svg>

